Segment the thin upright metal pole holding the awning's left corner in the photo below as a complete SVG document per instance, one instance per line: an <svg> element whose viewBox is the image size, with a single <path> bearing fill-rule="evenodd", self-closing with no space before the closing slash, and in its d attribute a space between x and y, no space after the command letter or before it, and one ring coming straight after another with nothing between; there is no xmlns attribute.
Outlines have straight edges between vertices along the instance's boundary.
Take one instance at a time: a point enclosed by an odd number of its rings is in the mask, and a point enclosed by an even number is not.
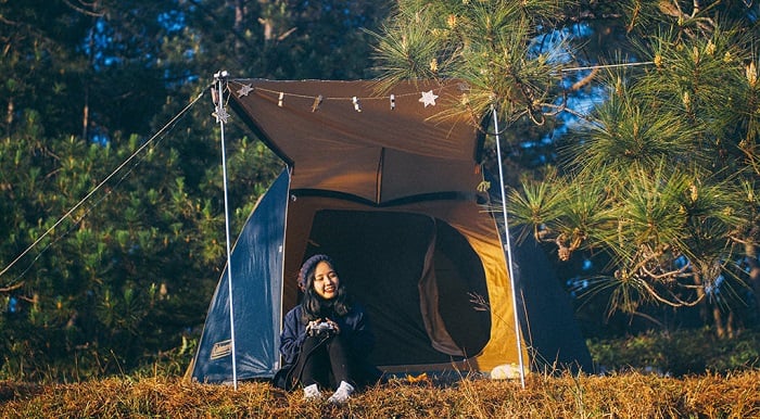
<svg viewBox="0 0 760 419"><path fill-rule="evenodd" d="M227 120L227 111L225 110L224 87L227 79L227 72L219 72L214 75L217 82L217 94L215 94L216 118L219 122L219 130L221 134L221 177L225 189L225 237L227 242L227 295L229 297L229 330L230 344L232 347L232 385L238 390L238 366L236 363L235 351L235 306L232 304L232 263L229 245L229 204L227 198L227 152L225 151L225 123Z"/></svg>

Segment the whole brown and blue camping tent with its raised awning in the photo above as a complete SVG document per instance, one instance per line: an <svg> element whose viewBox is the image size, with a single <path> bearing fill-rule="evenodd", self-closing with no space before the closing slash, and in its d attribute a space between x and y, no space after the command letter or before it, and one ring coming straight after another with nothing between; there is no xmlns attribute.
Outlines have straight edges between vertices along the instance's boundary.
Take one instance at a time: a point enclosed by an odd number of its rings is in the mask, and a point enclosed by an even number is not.
<svg viewBox="0 0 760 419"><path fill-rule="evenodd" d="M371 81L226 82L238 117L287 168L232 249L232 285L225 270L194 380L231 381L232 351L237 379L275 374L282 317L299 302L302 262L315 253L337 261L367 308L377 341L370 358L384 371L487 373L520 355L533 368L591 370L546 255L530 240L507 249L503 223L487 211L482 130L466 117L441 117L466 85L409 81L380 94Z"/></svg>

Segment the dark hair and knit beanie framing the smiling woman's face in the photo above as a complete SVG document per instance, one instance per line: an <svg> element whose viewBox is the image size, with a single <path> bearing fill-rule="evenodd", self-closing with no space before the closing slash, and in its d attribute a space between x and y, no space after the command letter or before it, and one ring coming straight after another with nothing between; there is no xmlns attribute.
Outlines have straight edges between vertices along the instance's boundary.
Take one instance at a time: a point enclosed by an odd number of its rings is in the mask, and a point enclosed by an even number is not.
<svg viewBox="0 0 760 419"><path fill-rule="evenodd" d="M317 265L320 262L327 262L330 264L335 274L338 274L335 264L328 255L314 255L306 259L306 262L304 262L304 264L301 266L301 271L299 272L299 288L304 293L303 300L301 301L301 306L303 307L303 322L308 322L321 317L321 309L326 306L332 306L332 310L338 316L345 316L351 308L349 305L349 295L343 281L339 280L338 295L330 301L326 301L314 290L315 272L317 270ZM338 275L338 278L340 278L340 275Z"/></svg>

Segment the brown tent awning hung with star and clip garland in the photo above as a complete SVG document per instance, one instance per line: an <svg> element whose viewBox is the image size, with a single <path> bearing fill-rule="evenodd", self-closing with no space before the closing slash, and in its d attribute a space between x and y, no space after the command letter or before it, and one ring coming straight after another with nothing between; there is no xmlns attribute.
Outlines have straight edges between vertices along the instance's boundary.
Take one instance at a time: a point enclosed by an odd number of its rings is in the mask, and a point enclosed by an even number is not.
<svg viewBox="0 0 760 419"><path fill-rule="evenodd" d="M292 165L291 189L383 205L426 194L474 195L482 179L474 125L440 117L460 100L460 82L409 81L382 94L366 80L232 79L228 86L233 107Z"/></svg>

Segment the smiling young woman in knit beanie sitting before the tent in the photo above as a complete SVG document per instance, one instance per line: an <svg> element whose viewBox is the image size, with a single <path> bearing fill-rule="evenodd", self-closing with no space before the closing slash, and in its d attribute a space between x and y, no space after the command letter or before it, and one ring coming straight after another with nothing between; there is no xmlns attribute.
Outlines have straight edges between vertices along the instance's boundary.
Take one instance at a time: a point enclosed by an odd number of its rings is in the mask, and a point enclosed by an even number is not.
<svg viewBox="0 0 760 419"><path fill-rule="evenodd" d="M280 335L284 365L276 384L304 389L318 399L322 389L337 389L328 402L345 403L381 373L367 360L373 344L366 313L349 300L332 259L322 254L304 262L299 274L301 304L288 312Z"/></svg>

